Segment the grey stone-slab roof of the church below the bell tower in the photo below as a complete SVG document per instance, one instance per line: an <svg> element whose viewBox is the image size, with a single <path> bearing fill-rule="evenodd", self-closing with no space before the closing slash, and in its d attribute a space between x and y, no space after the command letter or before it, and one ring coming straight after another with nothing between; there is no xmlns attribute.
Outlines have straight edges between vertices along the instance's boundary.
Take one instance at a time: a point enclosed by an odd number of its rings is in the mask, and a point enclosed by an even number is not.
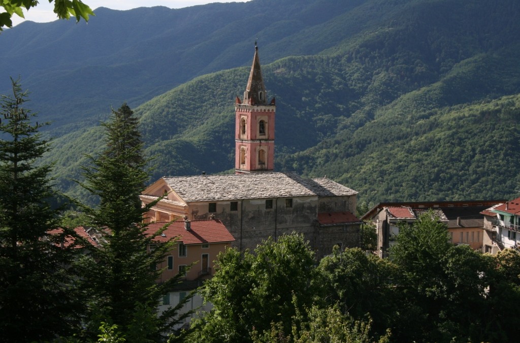
<svg viewBox="0 0 520 343"><path fill-rule="evenodd" d="M163 180L186 202L357 194L332 180L303 179L295 172L175 176Z"/></svg>

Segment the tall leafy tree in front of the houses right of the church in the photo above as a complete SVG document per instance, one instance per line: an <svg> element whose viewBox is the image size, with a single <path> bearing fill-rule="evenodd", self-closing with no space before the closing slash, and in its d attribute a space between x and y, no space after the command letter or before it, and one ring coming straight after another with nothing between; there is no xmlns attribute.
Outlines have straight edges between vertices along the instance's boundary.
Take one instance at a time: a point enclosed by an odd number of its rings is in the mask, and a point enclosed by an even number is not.
<svg viewBox="0 0 520 343"><path fill-rule="evenodd" d="M422 213L412 225L399 226L397 244L390 258L399 270L401 304L398 328L392 334L401 340L442 340L440 315L447 299L444 257L451 244L447 226L433 211Z"/></svg>

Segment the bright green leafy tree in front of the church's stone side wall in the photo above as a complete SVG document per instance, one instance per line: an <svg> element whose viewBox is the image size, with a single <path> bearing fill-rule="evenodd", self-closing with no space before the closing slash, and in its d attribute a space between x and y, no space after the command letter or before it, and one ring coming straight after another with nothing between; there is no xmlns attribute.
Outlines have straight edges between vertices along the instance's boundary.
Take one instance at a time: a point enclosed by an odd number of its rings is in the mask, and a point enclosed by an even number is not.
<svg viewBox="0 0 520 343"><path fill-rule="evenodd" d="M227 249L217 262L200 289L213 309L192 325L191 341L251 341L253 332L263 335L271 323L288 336L292 317L313 302L314 253L301 234L268 239L254 253Z"/></svg>

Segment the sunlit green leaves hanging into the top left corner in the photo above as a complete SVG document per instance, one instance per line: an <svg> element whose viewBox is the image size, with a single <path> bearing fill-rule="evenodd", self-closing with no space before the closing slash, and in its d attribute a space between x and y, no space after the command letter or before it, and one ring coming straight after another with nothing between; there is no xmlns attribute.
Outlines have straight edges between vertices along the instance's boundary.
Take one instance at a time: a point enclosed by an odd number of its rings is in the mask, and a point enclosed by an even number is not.
<svg viewBox="0 0 520 343"><path fill-rule="evenodd" d="M49 3L51 2L53 0L49 0ZM12 15L25 18L23 8L29 10L36 5L38 5L36 0L3 0L0 6L5 12L0 12L0 31L5 27L12 28ZM80 21L81 18L88 21L89 16L95 16L92 9L80 0L54 0L54 12L59 19L70 19L72 15L76 17L76 21Z"/></svg>

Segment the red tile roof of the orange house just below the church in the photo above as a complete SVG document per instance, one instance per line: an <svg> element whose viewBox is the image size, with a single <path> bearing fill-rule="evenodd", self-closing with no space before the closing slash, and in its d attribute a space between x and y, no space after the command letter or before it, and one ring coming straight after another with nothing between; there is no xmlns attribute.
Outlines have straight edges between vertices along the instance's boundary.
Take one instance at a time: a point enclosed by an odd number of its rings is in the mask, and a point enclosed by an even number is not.
<svg viewBox="0 0 520 343"><path fill-rule="evenodd" d="M160 230L167 222L156 222L148 225L146 234L151 235ZM179 238L185 245L205 243L233 242L235 238L229 233L226 226L217 219L194 220L190 222L190 230L184 228L184 220L170 224L163 231L164 235L154 238L157 242L167 242L172 238Z"/></svg>

